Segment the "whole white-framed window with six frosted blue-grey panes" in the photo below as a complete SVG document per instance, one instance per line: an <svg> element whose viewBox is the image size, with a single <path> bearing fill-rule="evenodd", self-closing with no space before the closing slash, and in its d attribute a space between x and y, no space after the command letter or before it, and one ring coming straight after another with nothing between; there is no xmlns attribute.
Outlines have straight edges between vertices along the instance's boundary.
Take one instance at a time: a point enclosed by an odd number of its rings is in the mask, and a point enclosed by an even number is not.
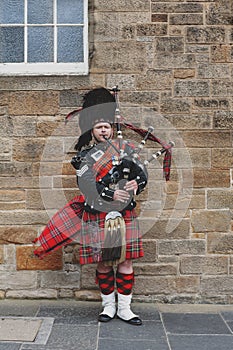
<svg viewBox="0 0 233 350"><path fill-rule="evenodd" d="M87 72L88 0L0 1L0 75Z"/></svg>

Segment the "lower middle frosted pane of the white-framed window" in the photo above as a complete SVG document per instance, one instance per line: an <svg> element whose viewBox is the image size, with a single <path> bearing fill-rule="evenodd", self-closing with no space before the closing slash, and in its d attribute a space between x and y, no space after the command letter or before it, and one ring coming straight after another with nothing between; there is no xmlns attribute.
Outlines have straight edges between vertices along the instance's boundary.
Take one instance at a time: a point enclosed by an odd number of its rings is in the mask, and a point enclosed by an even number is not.
<svg viewBox="0 0 233 350"><path fill-rule="evenodd" d="M28 62L53 62L53 28L28 28Z"/></svg>

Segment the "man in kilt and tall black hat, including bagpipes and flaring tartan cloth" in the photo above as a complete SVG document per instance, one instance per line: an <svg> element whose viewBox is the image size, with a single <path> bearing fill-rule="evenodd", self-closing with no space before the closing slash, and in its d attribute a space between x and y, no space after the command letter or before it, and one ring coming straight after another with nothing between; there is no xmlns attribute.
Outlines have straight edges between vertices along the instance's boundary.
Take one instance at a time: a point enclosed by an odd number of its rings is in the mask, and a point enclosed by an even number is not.
<svg viewBox="0 0 233 350"><path fill-rule="evenodd" d="M134 284L132 260L143 256L134 196L147 184L144 165L163 153L164 177L169 180L174 144L166 144L153 135L152 127L146 131L119 121L116 91L112 94L105 88L91 90L85 95L82 108L67 115L66 121L79 113L81 136L75 147L77 155L71 163L82 194L53 215L34 240L34 243L39 242L34 254L43 258L67 244L79 242L80 263L97 263L96 282L103 305L99 321L108 322L117 313L128 323L141 325L140 317L130 308ZM121 124L143 137L136 151L133 144L123 141ZM113 138L114 125L117 139ZM146 139L163 148L142 164L138 154Z"/></svg>

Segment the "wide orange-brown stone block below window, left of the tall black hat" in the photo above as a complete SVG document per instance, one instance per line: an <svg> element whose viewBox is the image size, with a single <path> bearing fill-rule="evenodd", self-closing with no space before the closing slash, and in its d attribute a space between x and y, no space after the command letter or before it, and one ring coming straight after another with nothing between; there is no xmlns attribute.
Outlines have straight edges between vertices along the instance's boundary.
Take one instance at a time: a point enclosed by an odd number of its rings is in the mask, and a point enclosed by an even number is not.
<svg viewBox="0 0 233 350"><path fill-rule="evenodd" d="M55 115L58 106L56 91L15 91L9 94L10 115Z"/></svg>

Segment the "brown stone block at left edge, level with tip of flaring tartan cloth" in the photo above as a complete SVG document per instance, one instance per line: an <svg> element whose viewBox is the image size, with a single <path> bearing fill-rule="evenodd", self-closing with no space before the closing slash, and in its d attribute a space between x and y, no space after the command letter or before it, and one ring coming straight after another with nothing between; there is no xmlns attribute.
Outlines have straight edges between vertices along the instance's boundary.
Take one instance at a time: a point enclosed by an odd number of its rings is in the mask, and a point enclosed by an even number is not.
<svg viewBox="0 0 233 350"><path fill-rule="evenodd" d="M36 236L36 227L0 226L0 244L30 244Z"/></svg>

